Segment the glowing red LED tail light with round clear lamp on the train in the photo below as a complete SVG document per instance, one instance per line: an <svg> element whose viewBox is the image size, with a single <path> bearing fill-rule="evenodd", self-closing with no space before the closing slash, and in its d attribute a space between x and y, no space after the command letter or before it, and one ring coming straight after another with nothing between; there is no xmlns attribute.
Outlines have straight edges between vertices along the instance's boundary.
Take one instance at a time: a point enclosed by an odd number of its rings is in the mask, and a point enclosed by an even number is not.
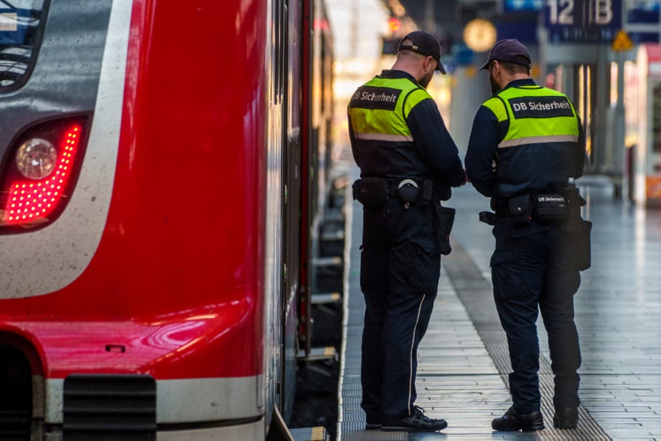
<svg viewBox="0 0 661 441"><path fill-rule="evenodd" d="M4 207L0 227L43 226L60 214L79 170L85 119L48 122L28 129L13 143L2 179L1 191L6 200L0 205ZM41 148L31 152L25 145ZM44 153L44 149L53 147L56 160L50 161L51 152ZM46 166L42 164L44 158Z"/></svg>

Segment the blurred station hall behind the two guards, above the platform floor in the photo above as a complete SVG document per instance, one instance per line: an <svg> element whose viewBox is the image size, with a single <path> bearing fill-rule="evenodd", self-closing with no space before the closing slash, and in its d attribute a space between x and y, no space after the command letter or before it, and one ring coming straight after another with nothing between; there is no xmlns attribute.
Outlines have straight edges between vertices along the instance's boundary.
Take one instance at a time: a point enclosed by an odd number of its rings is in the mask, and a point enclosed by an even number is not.
<svg viewBox="0 0 661 441"><path fill-rule="evenodd" d="M496 40L517 38L532 76L562 90L588 138L587 173L611 179L615 194L661 205L661 0L334 0L336 109L345 131L353 90L389 68L403 35L436 35L448 75L430 92L465 151L473 115L491 92L479 72Z"/></svg>

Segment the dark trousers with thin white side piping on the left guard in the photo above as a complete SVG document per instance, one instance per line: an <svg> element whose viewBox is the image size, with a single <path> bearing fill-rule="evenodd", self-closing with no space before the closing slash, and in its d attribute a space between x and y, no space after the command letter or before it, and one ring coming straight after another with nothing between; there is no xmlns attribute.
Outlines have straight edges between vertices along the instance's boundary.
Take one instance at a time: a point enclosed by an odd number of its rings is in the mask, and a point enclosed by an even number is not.
<svg viewBox="0 0 661 441"><path fill-rule="evenodd" d="M433 207L364 208L361 289L365 322L361 407L368 423L413 413L418 344L427 331L441 270Z"/></svg>

